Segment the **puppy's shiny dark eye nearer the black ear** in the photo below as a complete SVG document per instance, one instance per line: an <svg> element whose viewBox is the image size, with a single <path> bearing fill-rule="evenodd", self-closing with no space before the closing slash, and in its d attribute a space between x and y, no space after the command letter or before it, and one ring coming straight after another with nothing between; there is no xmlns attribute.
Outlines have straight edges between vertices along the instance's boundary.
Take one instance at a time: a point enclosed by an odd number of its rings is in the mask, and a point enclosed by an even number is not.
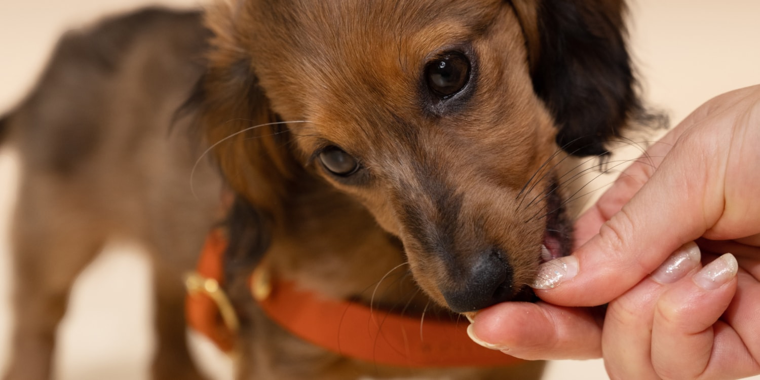
<svg viewBox="0 0 760 380"><path fill-rule="evenodd" d="M470 60L461 52L447 52L428 63L425 77L432 92L450 97L470 79Z"/></svg>

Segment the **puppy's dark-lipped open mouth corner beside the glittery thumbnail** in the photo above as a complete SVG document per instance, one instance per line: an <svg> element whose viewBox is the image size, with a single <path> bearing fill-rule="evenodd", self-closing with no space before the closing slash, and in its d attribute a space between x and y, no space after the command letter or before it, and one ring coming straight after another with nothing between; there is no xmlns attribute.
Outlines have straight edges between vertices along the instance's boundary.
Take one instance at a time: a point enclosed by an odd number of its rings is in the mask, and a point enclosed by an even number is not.
<svg viewBox="0 0 760 380"><path fill-rule="evenodd" d="M572 223L565 216L562 196L556 185L547 189L546 229L541 244L541 262L570 255L572 247Z"/></svg>

